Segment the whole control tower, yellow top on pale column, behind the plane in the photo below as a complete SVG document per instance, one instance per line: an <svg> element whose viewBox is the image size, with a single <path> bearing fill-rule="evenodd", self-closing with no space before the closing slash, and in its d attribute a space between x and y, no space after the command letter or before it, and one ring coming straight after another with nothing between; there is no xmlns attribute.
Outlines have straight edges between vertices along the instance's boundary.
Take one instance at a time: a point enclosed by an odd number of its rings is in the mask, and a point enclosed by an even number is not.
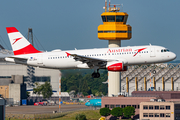
<svg viewBox="0 0 180 120"><path fill-rule="evenodd" d="M98 26L98 38L109 41L109 48L121 47L121 40L129 40L132 29L127 25L128 14L120 11L120 4L110 4L107 8L105 0L105 12L101 14L103 24ZM118 95L121 92L121 73L108 72L108 96Z"/></svg>

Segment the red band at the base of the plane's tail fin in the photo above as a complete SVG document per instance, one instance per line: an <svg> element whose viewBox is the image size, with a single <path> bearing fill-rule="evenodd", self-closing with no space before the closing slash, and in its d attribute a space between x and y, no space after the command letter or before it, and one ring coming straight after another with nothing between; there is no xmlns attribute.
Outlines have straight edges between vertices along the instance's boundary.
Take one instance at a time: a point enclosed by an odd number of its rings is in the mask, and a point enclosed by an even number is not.
<svg viewBox="0 0 180 120"><path fill-rule="evenodd" d="M14 55L22 55L22 54L31 54L31 53L41 53L41 51L36 50L31 44L29 44L28 46L13 51Z"/></svg>

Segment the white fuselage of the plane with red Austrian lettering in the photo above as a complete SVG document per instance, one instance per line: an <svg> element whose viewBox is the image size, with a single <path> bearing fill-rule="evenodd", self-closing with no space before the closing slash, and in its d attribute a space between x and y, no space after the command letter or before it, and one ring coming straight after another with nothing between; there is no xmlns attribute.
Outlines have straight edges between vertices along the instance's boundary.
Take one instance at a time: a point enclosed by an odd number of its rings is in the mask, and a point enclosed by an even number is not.
<svg viewBox="0 0 180 120"><path fill-rule="evenodd" d="M173 52L169 52L166 48L150 45L67 51L55 50L51 52L16 55L19 58L26 58L27 61L24 62L12 58L6 58L6 61L52 69L90 68L86 63L83 64L82 61L75 60L73 56L68 56L66 52L88 58L122 61L124 66L163 63L176 58L176 55Z"/></svg>

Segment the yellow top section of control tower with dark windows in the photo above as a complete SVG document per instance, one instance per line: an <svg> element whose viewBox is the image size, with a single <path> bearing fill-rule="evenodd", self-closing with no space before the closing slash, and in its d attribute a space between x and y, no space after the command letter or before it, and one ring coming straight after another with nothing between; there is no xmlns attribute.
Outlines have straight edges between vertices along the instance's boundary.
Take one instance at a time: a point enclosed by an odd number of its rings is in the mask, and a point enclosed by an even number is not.
<svg viewBox="0 0 180 120"><path fill-rule="evenodd" d="M102 25L98 26L98 38L101 40L131 39L132 29L127 25L128 14L125 12L104 12L101 14Z"/></svg>

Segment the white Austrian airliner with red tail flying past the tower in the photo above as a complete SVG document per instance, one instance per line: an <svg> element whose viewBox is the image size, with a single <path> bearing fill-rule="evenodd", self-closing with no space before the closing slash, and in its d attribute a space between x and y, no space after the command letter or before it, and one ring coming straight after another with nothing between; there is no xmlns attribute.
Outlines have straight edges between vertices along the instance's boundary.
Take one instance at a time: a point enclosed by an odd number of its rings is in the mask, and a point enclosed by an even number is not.
<svg viewBox="0 0 180 120"><path fill-rule="evenodd" d="M51 69L90 68L94 69L94 78L100 77L99 69L126 71L128 65L163 63L176 58L168 49L154 45L42 52L15 27L6 29L14 52L6 61Z"/></svg>

